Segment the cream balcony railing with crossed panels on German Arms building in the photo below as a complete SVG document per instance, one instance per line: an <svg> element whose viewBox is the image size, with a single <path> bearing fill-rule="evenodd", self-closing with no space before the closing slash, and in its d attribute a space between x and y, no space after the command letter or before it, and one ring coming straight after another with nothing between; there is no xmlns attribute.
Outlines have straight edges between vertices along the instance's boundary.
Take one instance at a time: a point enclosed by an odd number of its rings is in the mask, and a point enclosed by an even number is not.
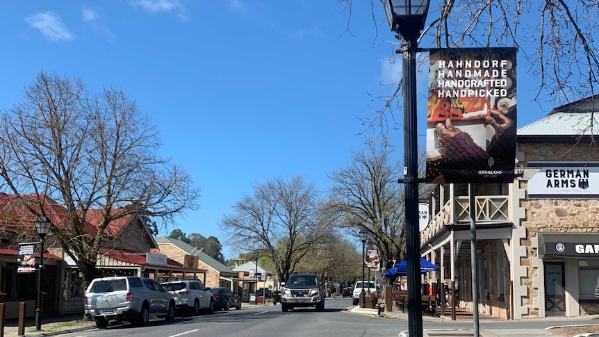
<svg viewBox="0 0 599 337"><path fill-rule="evenodd" d="M452 214L453 206L453 214ZM476 222L489 224L510 221L509 199L507 195L477 195L475 197ZM467 224L470 222L470 197L456 197L443 205L427 228L420 233L420 243L430 240L448 224Z"/></svg>

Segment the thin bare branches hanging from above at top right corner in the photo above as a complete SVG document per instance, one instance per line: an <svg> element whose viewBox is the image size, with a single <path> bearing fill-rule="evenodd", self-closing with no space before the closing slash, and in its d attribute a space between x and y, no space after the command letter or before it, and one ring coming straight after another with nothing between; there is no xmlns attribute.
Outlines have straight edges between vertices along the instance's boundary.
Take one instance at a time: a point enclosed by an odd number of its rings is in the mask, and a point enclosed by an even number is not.
<svg viewBox="0 0 599 337"><path fill-rule="evenodd" d="M352 4L370 1L375 39L393 39L380 0L337 1L350 8L348 27ZM520 76L539 79L534 97L539 107L550 104L553 108L597 94L599 57L594 37L599 28L598 0L432 1L427 24L420 47L518 47L526 60L518 64ZM393 55L396 47L391 49ZM377 97L381 106L373 107L376 113L365 118L365 124L382 127L388 126L388 121L395 123L393 113L401 106L401 87L399 83L390 96ZM586 134L598 133L596 124L589 127Z"/></svg>

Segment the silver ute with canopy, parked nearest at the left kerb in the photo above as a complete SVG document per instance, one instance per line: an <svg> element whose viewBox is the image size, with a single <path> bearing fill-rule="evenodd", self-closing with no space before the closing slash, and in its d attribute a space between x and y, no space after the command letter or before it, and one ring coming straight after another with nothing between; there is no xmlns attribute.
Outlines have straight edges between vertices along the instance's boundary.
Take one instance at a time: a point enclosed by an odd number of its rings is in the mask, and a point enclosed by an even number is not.
<svg viewBox="0 0 599 337"><path fill-rule="evenodd" d="M83 297L85 315L99 329L110 320L147 324L150 316L174 319L175 301L154 279L135 276L93 279Z"/></svg>

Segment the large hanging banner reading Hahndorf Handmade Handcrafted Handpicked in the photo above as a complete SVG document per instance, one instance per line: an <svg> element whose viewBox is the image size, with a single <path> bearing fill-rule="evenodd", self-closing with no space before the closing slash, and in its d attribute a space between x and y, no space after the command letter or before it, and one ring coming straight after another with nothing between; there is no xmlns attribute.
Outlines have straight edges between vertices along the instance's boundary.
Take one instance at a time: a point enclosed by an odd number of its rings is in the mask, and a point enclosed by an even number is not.
<svg viewBox="0 0 599 337"><path fill-rule="evenodd" d="M428 183L511 183L516 49L431 49Z"/></svg>

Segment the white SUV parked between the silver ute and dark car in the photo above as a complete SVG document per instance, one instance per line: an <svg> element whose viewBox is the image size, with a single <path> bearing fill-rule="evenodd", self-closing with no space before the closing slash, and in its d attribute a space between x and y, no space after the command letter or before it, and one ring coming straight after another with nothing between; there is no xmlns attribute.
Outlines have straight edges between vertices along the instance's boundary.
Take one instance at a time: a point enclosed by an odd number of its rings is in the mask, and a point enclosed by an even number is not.
<svg viewBox="0 0 599 337"><path fill-rule="evenodd" d="M197 280L172 281L162 283L161 286L172 294L177 309L190 311L199 315L201 311L214 311L214 297L204 283Z"/></svg>

